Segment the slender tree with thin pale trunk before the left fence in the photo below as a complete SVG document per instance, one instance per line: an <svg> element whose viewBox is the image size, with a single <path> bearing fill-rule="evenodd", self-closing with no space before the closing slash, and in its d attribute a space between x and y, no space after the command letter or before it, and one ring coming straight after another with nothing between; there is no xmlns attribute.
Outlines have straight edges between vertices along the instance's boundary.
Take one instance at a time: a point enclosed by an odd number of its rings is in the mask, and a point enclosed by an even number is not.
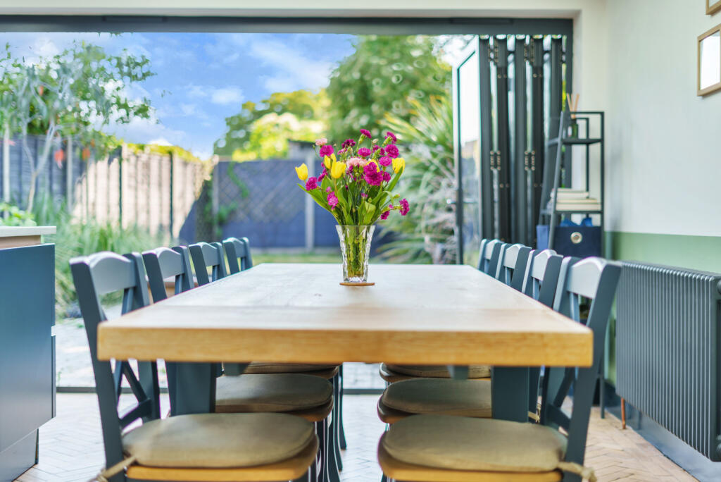
<svg viewBox="0 0 721 482"><path fill-rule="evenodd" d="M105 126L150 118L149 99L128 97L128 87L154 75L149 64L145 56L136 57L127 51L110 56L97 45L75 43L36 63L15 59L6 66L2 83L12 89L7 91L10 92L7 97L0 97L0 115L4 115L4 125L19 131L21 136L30 167L28 211L32 211L37 178L63 136L76 136L99 149L110 139L102 134ZM12 110L3 108L6 101ZM30 134L45 137L37 157L30 152Z"/></svg>

